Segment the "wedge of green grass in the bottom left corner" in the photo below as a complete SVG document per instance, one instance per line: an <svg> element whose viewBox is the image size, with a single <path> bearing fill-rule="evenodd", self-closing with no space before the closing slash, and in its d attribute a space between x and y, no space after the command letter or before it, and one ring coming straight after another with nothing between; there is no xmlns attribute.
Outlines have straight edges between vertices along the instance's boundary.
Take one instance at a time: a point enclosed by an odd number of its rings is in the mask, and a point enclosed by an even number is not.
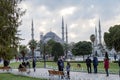
<svg viewBox="0 0 120 80"><path fill-rule="evenodd" d="M0 73L0 80L47 80L47 79L18 76L9 73Z"/></svg>

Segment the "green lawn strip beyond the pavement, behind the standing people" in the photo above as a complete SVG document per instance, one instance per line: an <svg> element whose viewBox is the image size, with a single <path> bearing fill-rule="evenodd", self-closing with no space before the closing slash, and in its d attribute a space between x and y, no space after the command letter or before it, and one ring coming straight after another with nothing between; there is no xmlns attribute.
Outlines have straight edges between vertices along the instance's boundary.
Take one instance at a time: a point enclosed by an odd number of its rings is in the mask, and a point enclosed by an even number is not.
<svg viewBox="0 0 120 80"><path fill-rule="evenodd" d="M16 68L17 69L19 64L20 64L20 62L15 62L15 63L11 63L10 66L12 68ZM31 64L31 68L32 68L32 63L30 63L30 64ZM66 66L66 62L64 64ZM81 68L77 67L78 63L72 62L70 64L71 64L71 71L87 72L85 63L79 63L79 64L81 64ZM44 67L44 62L37 62L36 67L37 68L43 68ZM57 63L56 62L46 62L46 67L47 68L52 68L52 69L57 69ZM93 66L92 66L92 68L93 68ZM93 69L92 69L92 71L93 71ZM118 74L119 73L118 64L110 62L109 72L110 73L114 73L114 74ZM103 62L100 62L99 65L98 65L98 73L105 73Z"/></svg>

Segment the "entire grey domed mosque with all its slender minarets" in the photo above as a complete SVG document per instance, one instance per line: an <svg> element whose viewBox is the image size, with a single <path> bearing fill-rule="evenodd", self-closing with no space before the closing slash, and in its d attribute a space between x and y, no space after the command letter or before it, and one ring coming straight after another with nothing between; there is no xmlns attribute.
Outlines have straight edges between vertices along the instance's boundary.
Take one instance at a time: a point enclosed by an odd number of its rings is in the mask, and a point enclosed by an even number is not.
<svg viewBox="0 0 120 80"><path fill-rule="evenodd" d="M66 30L65 30L66 29ZM33 22L32 22L32 39L34 37L33 34ZM47 32L45 35L43 35L42 33L40 34L40 41L42 41L43 43L47 43L49 40L54 40L56 42L59 42L61 44L68 44L68 31L67 31L67 24L66 27L64 27L64 19L62 17L62 36L59 37L56 33L49 31ZM97 34L98 33L98 34ZM95 41L93 43L93 50L92 50L92 55L97 55L99 57L104 56L104 52L107 51L109 53L110 56L113 56L114 54L116 54L115 49L113 48L112 50L108 50L105 46L105 44L103 44L104 41L102 42L102 35L101 35L101 24L100 24L100 20L99 20L99 24L98 24L98 30L95 27ZM71 53L72 54L72 53Z"/></svg>

